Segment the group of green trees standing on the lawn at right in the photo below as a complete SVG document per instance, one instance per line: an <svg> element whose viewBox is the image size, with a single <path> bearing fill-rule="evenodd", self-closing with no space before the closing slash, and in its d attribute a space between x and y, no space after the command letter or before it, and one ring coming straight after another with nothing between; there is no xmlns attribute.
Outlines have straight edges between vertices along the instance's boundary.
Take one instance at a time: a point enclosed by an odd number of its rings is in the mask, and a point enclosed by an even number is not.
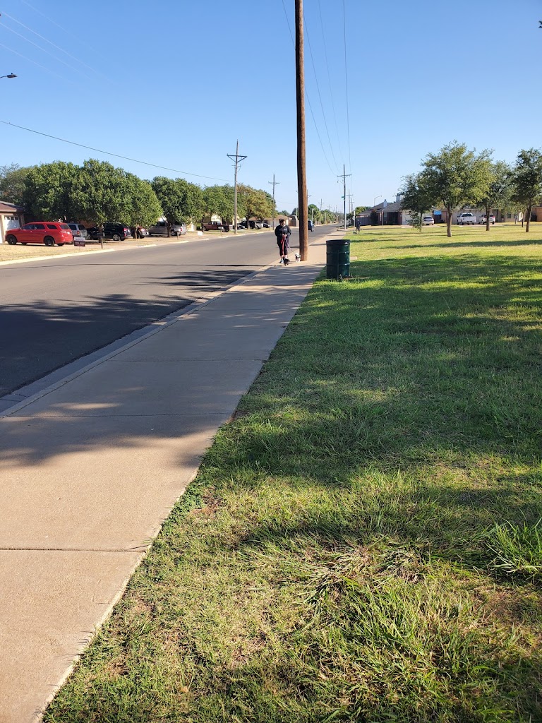
<svg viewBox="0 0 542 723"><path fill-rule="evenodd" d="M447 233L452 236L452 213L469 205L486 211L486 231L494 208L522 210L529 231L531 210L542 200L541 151L520 150L512 166L491 156L489 150L476 153L457 141L426 155L422 170L405 176L400 189L413 226L421 228L422 216L440 205L447 211Z"/></svg>

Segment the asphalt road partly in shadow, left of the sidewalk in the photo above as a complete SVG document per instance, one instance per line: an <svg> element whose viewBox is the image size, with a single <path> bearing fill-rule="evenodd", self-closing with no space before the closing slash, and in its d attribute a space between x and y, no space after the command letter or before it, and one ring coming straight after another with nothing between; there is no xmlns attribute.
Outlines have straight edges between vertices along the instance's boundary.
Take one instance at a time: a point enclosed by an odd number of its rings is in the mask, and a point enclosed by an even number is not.
<svg viewBox="0 0 542 723"><path fill-rule="evenodd" d="M1 265L0 397L279 259L272 231L158 244Z"/></svg>

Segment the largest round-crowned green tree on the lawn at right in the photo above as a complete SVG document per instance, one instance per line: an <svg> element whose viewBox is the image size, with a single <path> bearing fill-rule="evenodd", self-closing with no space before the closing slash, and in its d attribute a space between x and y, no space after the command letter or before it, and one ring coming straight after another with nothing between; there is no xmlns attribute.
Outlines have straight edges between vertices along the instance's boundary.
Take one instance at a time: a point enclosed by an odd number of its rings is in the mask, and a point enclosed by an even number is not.
<svg viewBox="0 0 542 723"><path fill-rule="evenodd" d="M429 153L422 162L423 184L429 197L447 211L447 235L452 236L452 213L467 203L476 203L487 185L489 152L479 155L464 143L453 141Z"/></svg>

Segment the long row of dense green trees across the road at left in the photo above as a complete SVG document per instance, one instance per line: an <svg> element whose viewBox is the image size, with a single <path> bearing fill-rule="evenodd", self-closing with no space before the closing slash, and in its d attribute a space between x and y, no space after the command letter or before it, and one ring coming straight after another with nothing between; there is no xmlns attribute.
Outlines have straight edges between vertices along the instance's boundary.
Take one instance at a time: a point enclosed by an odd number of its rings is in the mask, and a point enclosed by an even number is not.
<svg viewBox="0 0 542 723"><path fill-rule="evenodd" d="M202 188L165 176L144 181L123 168L93 159L82 166L64 161L26 168L0 166L0 198L24 207L33 218L151 226L161 216L171 225L216 214L224 223L233 223L233 194L228 184ZM269 193L238 185L237 213L241 218L268 218L272 207Z"/></svg>

